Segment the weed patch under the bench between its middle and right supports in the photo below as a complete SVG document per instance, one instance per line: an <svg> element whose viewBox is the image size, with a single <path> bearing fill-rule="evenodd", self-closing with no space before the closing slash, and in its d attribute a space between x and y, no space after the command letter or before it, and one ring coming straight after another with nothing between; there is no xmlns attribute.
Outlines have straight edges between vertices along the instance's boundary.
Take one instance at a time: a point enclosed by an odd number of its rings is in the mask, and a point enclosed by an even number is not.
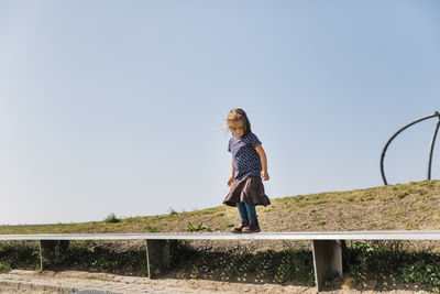
<svg viewBox="0 0 440 294"><path fill-rule="evenodd" d="M306 250L208 252L177 242L170 255L173 266L184 266L183 276L187 277L209 277L217 272L223 281L246 281L254 276L257 281L280 284L292 280L314 284L312 254Z"/></svg>

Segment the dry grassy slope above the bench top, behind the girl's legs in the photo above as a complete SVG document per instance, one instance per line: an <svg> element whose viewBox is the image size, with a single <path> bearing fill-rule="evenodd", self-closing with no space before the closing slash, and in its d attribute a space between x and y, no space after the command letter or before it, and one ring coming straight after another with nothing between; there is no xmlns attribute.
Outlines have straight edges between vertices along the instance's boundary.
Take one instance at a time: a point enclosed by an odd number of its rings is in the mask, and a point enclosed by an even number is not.
<svg viewBox="0 0 440 294"><path fill-rule="evenodd" d="M257 207L263 231L440 229L440 181L272 199ZM119 221L118 221L119 220ZM113 219L116 222L0 226L0 233L229 231L237 208Z"/></svg>

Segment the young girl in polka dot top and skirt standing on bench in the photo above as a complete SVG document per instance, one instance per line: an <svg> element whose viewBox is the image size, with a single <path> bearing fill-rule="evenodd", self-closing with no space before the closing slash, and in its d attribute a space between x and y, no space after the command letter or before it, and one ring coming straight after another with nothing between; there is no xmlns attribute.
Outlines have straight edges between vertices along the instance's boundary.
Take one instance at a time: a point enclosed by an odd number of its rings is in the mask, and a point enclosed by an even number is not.
<svg viewBox="0 0 440 294"><path fill-rule="evenodd" d="M270 205L263 182L268 179L267 159L258 138L251 131L251 123L244 110L229 111L227 127L232 133L228 151L232 153L231 187L223 204L239 208L241 224L232 232L258 232L256 205Z"/></svg>

